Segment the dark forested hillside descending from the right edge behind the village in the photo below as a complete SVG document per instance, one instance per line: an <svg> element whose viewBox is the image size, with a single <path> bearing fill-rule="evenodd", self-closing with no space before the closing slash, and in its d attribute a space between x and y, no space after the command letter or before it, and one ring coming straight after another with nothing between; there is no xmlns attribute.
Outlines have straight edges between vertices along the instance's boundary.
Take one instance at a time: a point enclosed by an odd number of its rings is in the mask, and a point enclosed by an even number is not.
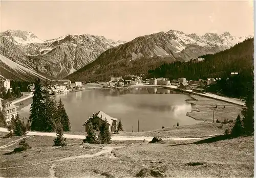
<svg viewBox="0 0 256 178"><path fill-rule="evenodd" d="M251 75L253 71L254 38L246 39L216 54L200 56L201 60L163 64L152 70L147 78L165 77L177 79L184 77L188 80L207 78L226 78L230 72Z"/></svg>

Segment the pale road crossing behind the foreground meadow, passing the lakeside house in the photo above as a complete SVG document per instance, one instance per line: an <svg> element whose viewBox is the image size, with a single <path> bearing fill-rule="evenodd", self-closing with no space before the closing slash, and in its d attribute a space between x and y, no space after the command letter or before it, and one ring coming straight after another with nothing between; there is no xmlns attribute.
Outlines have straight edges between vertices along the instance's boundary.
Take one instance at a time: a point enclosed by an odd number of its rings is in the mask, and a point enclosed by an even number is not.
<svg viewBox="0 0 256 178"><path fill-rule="evenodd" d="M8 132L5 128L0 128L0 132ZM56 133L47 133L47 132L28 132L27 135L39 135L39 136L50 136L56 137ZM214 136L214 135L211 135ZM211 137L208 136L208 137ZM71 135L71 134L64 134L66 138L75 138L75 139L84 139L86 138L85 135ZM205 137L207 138L207 137ZM126 141L126 140L146 140L151 141L153 137L126 137L126 136L112 136L111 140L118 140L118 141ZM169 138L162 138L163 140L195 140L195 139L202 139L202 138L179 138L179 137L169 137Z"/></svg>

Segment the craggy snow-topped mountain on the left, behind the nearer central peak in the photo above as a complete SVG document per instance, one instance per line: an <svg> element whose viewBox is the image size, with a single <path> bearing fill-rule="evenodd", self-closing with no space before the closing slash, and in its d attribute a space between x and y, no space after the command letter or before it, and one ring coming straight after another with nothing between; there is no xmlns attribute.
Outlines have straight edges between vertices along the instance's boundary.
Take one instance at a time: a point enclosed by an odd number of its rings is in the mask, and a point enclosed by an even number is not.
<svg viewBox="0 0 256 178"><path fill-rule="evenodd" d="M94 61L105 50L124 43L88 34L66 35L43 41L33 33L0 33L0 54L55 78L63 78Z"/></svg>

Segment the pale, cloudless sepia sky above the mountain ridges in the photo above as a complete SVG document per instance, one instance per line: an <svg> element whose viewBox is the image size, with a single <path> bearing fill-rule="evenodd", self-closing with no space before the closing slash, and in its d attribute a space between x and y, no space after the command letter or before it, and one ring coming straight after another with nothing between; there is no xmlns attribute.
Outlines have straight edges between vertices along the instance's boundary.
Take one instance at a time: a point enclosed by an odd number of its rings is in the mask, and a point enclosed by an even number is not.
<svg viewBox="0 0 256 178"><path fill-rule="evenodd" d="M67 34L130 41L169 30L253 35L250 1L3 1L0 31L30 31L42 40Z"/></svg>

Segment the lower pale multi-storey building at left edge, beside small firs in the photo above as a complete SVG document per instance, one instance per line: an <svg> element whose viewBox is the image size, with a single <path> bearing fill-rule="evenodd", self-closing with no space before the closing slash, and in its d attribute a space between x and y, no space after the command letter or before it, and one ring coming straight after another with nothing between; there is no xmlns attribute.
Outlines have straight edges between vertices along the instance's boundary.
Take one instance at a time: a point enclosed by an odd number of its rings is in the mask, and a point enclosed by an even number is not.
<svg viewBox="0 0 256 178"><path fill-rule="evenodd" d="M11 101L0 98L0 110L5 112L7 122L11 121L12 116L17 116L17 109L18 106L12 105Z"/></svg>

